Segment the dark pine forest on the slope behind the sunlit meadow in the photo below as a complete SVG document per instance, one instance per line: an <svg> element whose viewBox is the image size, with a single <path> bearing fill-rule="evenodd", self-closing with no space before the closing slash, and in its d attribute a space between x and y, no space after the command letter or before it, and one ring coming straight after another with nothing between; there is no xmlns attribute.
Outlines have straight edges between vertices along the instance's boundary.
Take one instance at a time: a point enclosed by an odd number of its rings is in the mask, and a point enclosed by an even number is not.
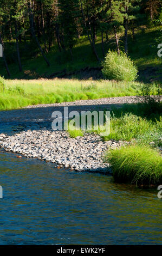
<svg viewBox="0 0 162 256"><path fill-rule="evenodd" d="M136 54L148 57L161 42L161 0L0 2L0 66L6 78L49 78L64 69L101 66L109 48L133 54L133 59ZM144 45L150 38L152 44Z"/></svg>

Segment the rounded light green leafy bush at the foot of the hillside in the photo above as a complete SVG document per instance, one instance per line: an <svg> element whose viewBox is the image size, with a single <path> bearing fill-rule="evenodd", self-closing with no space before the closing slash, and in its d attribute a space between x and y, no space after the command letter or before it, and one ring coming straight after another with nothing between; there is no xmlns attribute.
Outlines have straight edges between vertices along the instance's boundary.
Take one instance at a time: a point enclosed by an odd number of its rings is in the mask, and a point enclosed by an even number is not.
<svg viewBox="0 0 162 256"><path fill-rule="evenodd" d="M106 79L117 81L134 81L137 78L137 67L125 53L109 51L103 62L102 74Z"/></svg>

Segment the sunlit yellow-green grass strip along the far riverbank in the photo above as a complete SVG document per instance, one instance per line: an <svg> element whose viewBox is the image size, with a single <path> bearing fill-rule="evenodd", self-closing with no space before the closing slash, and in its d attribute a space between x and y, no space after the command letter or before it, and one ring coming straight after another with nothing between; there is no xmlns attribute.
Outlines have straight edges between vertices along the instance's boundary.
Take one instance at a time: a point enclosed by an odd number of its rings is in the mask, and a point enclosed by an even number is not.
<svg viewBox="0 0 162 256"><path fill-rule="evenodd" d="M81 81L54 80L3 80L0 81L0 110L16 109L39 103L59 103L102 97L141 95L144 83L115 82L108 80ZM157 94L157 84L150 86Z"/></svg>

